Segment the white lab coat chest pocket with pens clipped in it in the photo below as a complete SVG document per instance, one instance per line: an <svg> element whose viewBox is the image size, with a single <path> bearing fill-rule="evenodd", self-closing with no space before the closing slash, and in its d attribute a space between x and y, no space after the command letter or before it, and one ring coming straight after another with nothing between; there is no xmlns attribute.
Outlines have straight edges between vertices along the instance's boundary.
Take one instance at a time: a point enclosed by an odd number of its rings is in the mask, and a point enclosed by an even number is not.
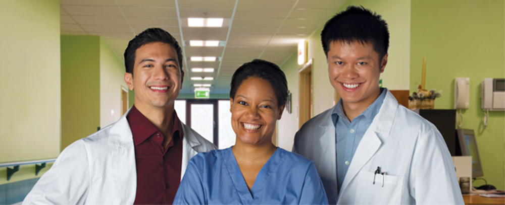
<svg viewBox="0 0 505 205"><path fill-rule="evenodd" d="M356 190L357 204L400 204L403 176L393 176L361 171Z"/></svg>

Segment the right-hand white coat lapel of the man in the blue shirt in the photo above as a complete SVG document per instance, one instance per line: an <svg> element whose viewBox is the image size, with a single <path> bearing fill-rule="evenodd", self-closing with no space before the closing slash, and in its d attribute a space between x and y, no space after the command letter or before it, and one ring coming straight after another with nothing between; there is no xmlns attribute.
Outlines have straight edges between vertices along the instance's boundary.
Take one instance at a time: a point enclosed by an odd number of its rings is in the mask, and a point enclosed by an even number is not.
<svg viewBox="0 0 505 205"><path fill-rule="evenodd" d="M352 163L347 170L347 174L345 174L340 194L345 191L347 185L349 185L361 168L363 168L380 148L382 144L380 138L387 138L389 136L397 108L398 101L396 101L396 98L394 98L388 90L379 112L365 132L365 135L363 135L363 139L360 145L358 145L354 157L352 157Z"/></svg>

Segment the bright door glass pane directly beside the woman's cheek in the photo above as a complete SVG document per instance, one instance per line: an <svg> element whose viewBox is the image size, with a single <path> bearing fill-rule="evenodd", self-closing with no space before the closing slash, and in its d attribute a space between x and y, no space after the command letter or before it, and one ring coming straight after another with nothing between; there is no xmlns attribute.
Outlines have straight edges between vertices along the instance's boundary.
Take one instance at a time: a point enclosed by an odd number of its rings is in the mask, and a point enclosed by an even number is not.
<svg viewBox="0 0 505 205"><path fill-rule="evenodd" d="M235 145L236 135L231 128L230 101L220 100L218 102L219 112L219 149L229 148Z"/></svg>

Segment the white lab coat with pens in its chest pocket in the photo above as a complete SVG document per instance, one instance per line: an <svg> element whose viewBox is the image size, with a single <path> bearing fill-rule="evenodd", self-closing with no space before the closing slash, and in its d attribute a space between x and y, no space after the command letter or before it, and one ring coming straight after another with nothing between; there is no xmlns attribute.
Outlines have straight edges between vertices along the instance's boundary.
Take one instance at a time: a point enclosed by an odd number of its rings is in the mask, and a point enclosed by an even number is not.
<svg viewBox="0 0 505 205"><path fill-rule="evenodd" d="M442 135L429 121L398 105L387 91L337 190L333 108L296 132L293 152L313 160L329 203L463 204L455 167ZM345 165L342 165L345 166ZM374 171L381 167L381 175Z"/></svg>

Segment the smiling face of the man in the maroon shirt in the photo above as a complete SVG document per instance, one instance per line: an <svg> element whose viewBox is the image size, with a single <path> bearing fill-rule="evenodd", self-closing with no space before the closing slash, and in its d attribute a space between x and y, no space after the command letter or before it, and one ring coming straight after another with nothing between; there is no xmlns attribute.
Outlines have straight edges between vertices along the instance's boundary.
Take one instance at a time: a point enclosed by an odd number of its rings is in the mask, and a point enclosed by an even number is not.
<svg viewBox="0 0 505 205"><path fill-rule="evenodd" d="M135 91L135 107L151 110L173 108L183 77L175 49L166 43L153 42L135 51L133 74L126 73L125 82Z"/></svg>

